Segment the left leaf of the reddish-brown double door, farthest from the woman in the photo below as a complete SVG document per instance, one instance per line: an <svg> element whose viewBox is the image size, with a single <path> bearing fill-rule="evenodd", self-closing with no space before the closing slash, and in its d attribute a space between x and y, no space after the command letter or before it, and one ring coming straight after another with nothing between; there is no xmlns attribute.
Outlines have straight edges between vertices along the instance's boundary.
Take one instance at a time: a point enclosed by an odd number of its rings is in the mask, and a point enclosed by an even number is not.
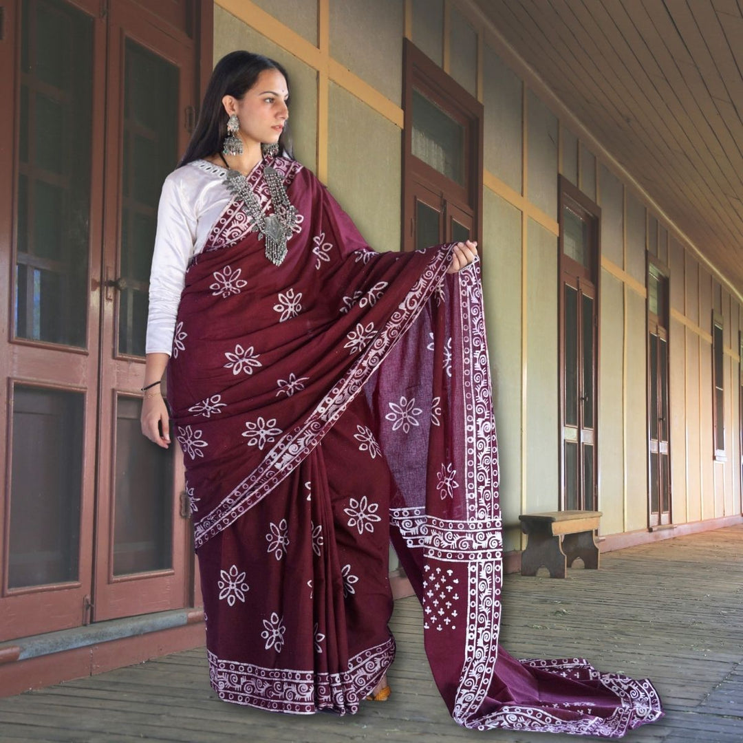
<svg viewBox="0 0 743 743"><path fill-rule="evenodd" d="M90 603L106 27L95 0L18 0L3 10L0 640L8 640L80 625Z"/></svg>

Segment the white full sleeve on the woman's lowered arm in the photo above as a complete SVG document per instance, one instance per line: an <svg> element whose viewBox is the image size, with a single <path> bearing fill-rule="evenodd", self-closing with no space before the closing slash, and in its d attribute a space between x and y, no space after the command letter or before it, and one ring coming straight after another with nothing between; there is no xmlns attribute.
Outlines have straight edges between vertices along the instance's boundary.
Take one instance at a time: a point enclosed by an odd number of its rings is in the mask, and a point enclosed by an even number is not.
<svg viewBox="0 0 743 743"><path fill-rule="evenodd" d="M193 201L183 192L178 171L163 183L158 207L158 230L149 279L146 353L170 354L178 303L186 268L194 253L196 215Z"/></svg>

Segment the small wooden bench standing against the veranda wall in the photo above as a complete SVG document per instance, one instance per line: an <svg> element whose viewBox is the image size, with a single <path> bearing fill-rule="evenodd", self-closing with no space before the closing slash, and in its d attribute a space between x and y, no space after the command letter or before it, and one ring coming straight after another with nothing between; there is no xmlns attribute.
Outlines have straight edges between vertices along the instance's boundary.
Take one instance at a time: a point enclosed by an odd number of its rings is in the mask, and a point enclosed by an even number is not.
<svg viewBox="0 0 743 743"><path fill-rule="evenodd" d="M521 555L521 574L536 575L545 566L551 578L564 578L576 557L588 570L598 570L599 548L594 531L601 511L550 511L522 513L521 530L529 541Z"/></svg>

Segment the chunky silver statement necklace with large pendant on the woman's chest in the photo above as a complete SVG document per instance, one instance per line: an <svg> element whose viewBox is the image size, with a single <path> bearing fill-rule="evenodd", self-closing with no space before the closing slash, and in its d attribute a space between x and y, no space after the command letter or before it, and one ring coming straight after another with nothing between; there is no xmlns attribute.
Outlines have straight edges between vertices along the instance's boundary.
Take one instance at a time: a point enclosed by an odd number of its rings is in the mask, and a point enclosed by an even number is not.
<svg viewBox="0 0 743 743"><path fill-rule="evenodd" d="M245 212L253 219L250 230L257 230L258 239L265 241L266 258L275 266L282 265L288 253L287 240L296 224L296 207L286 195L284 178L273 166L267 164L263 167L263 177L268 184L273 204L273 214L266 215L261 209L258 197L248 186L247 178L236 169L230 168L224 156L222 162L227 167L227 189L240 199Z"/></svg>

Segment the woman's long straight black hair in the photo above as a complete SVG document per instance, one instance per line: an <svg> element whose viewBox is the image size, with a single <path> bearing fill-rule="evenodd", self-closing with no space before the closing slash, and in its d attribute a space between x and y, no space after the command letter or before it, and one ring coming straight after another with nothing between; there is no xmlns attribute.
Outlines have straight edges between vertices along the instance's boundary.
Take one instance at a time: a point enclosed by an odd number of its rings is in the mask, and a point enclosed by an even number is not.
<svg viewBox="0 0 743 743"><path fill-rule="evenodd" d="M275 59L249 51L232 51L217 62L212 77L207 85L207 92L201 102L196 127L191 141L178 166L214 155L222 149L222 141L227 137L227 111L222 105L222 98L231 95L238 100L246 91L256 84L259 74L264 70L278 70L289 85L286 70ZM279 137L279 152L285 152L293 158L289 122Z"/></svg>

